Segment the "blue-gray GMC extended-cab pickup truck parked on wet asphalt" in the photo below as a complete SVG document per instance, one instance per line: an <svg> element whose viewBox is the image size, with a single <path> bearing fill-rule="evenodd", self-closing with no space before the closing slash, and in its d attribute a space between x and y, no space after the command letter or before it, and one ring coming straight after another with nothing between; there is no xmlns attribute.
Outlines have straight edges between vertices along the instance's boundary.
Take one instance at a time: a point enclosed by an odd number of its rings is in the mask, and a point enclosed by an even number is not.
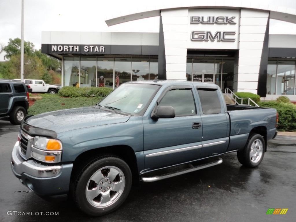
<svg viewBox="0 0 296 222"><path fill-rule="evenodd" d="M214 84L135 81L96 106L25 118L11 168L40 197L71 196L83 212L103 215L132 183L217 165L225 153L257 167L276 125L275 109L226 105Z"/></svg>

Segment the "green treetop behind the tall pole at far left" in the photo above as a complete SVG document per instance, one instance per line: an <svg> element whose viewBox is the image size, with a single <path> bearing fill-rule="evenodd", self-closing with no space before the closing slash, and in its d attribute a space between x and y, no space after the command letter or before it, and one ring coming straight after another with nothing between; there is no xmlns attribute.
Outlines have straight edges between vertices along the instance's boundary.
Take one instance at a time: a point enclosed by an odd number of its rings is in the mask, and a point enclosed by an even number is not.
<svg viewBox="0 0 296 222"><path fill-rule="evenodd" d="M7 52L7 57L10 58L12 55L20 54L20 46L21 46L21 39L9 38L9 42L7 46L4 47L4 51ZM24 53L28 56L32 56L34 54L34 44L29 41L24 41Z"/></svg>

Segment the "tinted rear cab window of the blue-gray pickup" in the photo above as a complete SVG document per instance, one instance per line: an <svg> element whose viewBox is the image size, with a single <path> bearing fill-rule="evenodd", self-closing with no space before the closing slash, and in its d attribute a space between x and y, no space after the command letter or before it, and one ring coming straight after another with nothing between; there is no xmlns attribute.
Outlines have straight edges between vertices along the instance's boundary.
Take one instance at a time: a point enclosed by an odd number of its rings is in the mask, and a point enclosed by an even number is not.
<svg viewBox="0 0 296 222"><path fill-rule="evenodd" d="M203 114L221 113L221 103L218 95L218 89L197 89L202 105Z"/></svg>

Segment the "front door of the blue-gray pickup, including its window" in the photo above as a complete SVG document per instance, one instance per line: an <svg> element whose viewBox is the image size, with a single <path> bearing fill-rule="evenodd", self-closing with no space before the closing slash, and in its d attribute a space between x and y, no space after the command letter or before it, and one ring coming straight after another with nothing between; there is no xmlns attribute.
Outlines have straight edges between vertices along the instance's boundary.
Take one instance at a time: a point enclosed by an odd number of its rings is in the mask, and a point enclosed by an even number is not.
<svg viewBox="0 0 296 222"><path fill-rule="evenodd" d="M192 86L168 88L160 106L172 106L176 117L143 120L145 170L196 160L200 157L202 126Z"/></svg>

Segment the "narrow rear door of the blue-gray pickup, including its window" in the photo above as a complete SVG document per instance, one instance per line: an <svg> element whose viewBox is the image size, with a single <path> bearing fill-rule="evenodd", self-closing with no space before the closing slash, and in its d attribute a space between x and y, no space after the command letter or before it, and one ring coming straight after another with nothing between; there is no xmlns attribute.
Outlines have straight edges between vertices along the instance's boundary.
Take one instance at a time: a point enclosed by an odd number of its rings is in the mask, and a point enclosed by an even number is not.
<svg viewBox="0 0 296 222"><path fill-rule="evenodd" d="M226 152L229 144L229 118L220 91L214 88L198 88L202 118L202 152L209 157Z"/></svg>

